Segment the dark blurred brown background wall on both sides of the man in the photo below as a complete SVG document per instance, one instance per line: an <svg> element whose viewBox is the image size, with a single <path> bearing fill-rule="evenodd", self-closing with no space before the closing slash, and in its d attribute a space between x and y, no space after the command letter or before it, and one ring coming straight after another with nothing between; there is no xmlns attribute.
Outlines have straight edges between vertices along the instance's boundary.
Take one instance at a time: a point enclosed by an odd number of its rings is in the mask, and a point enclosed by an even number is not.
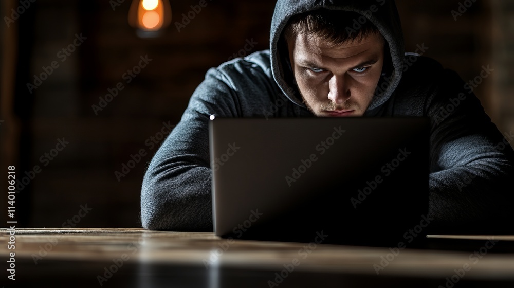
<svg viewBox="0 0 514 288"><path fill-rule="evenodd" d="M179 121L208 68L227 61L247 40L258 43L248 53L269 45L274 0L207 0L180 32L175 22L199 1L172 0L172 24L155 39L139 38L128 25L132 0L114 1L121 3L113 9L113 1L107 0L36 0L9 27L5 17L21 4L0 4L0 171L7 178L7 167L15 165L17 179L27 177L28 182L16 194L18 228L62 227L78 215L81 205L91 210L66 225L140 227L141 181L157 150L146 141L159 136L163 122ZM514 3L396 3L407 51L424 44L429 47L425 56L456 70L466 81L480 75L483 65L494 69L475 93L499 129L511 132ZM455 21L451 11L460 3L472 5ZM61 62L58 52L81 33L87 39ZM105 98L107 89L123 82L126 70L146 55L152 59L148 66L95 115L91 105L99 105L99 97ZM59 67L29 93L27 83L56 60ZM69 142L66 148L42 162L40 157L63 137ZM118 181L115 171L141 149L146 156ZM31 172L34 165L41 167L39 173ZM5 219L7 184L2 183L0 208Z"/></svg>

